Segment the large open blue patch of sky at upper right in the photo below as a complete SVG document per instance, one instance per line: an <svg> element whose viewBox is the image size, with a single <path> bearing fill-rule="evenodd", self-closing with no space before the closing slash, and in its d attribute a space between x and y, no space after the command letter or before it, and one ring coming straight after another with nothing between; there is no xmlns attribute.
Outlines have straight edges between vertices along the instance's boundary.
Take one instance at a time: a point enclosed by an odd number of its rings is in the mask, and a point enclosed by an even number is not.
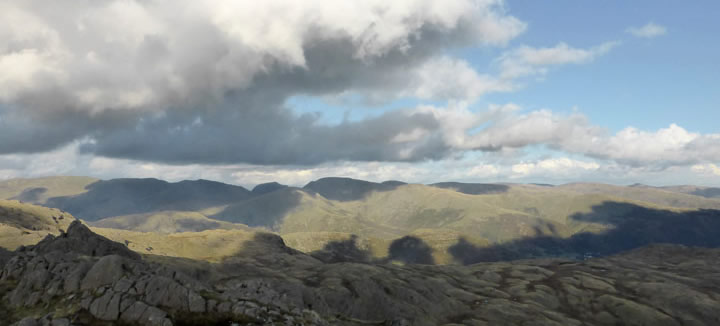
<svg viewBox="0 0 720 326"><path fill-rule="evenodd" d="M614 130L657 129L671 122L698 132L718 130L719 2L518 0L508 2L508 9L529 24L514 42L592 46L619 40L622 45L591 65L558 69L542 83L488 101L577 106ZM665 26L667 34L638 39L625 32L648 22ZM465 57L484 65L472 50Z"/></svg>

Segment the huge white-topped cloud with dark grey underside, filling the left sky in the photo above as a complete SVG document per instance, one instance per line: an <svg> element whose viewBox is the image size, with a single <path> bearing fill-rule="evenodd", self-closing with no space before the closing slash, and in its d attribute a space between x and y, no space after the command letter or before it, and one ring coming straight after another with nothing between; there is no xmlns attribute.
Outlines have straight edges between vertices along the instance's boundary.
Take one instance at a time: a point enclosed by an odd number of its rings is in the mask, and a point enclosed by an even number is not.
<svg viewBox="0 0 720 326"><path fill-rule="evenodd" d="M427 115L322 126L285 101L502 90L445 53L525 28L500 0L3 3L0 153L81 141L174 164L434 159L437 140L398 141L434 129Z"/></svg>

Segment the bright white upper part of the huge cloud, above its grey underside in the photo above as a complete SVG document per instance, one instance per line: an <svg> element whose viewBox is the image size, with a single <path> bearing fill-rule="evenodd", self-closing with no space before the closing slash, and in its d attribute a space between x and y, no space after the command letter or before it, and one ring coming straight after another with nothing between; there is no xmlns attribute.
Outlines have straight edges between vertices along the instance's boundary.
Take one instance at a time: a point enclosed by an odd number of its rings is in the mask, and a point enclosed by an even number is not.
<svg viewBox="0 0 720 326"><path fill-rule="evenodd" d="M505 15L502 5L501 0L6 2L0 4L0 100L60 92L76 109L92 111L198 103L245 89L277 69L309 69L307 52L326 41L346 41L348 54L368 67L391 52L417 51L428 42L421 39L430 37L427 30L450 42L457 34L463 38L459 43L503 45L525 24Z"/></svg>

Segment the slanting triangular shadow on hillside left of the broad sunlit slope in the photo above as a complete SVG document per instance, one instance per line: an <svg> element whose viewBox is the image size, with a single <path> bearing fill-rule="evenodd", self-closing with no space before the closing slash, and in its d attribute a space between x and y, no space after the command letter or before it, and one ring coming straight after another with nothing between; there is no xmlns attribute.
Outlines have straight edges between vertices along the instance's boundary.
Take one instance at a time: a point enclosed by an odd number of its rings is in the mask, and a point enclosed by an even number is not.
<svg viewBox="0 0 720 326"><path fill-rule="evenodd" d="M285 215L300 205L301 199L302 194L297 188L280 189L230 205L210 218L273 229L282 223Z"/></svg>

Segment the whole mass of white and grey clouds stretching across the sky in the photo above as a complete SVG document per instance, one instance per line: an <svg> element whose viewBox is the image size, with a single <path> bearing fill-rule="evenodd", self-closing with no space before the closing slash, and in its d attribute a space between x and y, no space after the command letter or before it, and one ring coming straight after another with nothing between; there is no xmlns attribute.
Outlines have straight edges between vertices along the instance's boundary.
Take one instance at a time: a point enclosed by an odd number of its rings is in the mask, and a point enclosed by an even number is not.
<svg viewBox="0 0 720 326"><path fill-rule="evenodd" d="M211 176L245 171L242 164L298 172L365 162L357 164L377 170L371 164L534 145L632 166L720 162L718 134L676 125L610 134L577 113L473 108L484 94L511 91L554 66L592 62L618 44L515 47L495 61L497 74L449 55L457 47L506 46L525 28L501 0L3 2L0 173L17 174L22 169L11 167L27 153L67 155L68 164L101 175L184 165L167 169L174 178L210 165ZM286 104L298 95L342 94L450 104L335 125ZM338 166L339 175L362 176ZM53 171L84 174L63 164ZM258 171L256 179L266 170ZM503 173L484 163L463 171Z"/></svg>

